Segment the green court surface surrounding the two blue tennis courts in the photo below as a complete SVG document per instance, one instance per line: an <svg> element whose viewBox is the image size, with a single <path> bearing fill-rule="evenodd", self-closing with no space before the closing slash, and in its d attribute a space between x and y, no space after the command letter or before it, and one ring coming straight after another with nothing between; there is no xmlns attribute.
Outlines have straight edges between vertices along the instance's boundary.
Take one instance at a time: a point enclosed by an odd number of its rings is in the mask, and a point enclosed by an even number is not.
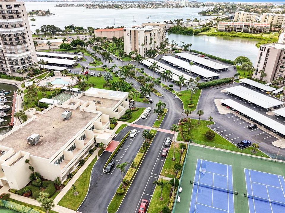
<svg viewBox="0 0 285 213"><path fill-rule="evenodd" d="M233 191L238 192L237 195L233 195L235 213L251 213L248 207L248 198L243 196L247 193L245 169L285 176L284 163L190 145L186 156L183 175L181 176L180 187L182 187L182 192L178 193L180 202L175 200L173 211L175 213L195 212L195 209L194 211L192 208L190 209L190 203L193 187L197 188L197 185L191 184L190 181L195 179L198 159L232 166ZM221 203L223 202L224 201L221 201ZM196 201L194 203L196 203ZM195 213L198 212L196 211ZM199 211L199 213L203 212Z"/></svg>

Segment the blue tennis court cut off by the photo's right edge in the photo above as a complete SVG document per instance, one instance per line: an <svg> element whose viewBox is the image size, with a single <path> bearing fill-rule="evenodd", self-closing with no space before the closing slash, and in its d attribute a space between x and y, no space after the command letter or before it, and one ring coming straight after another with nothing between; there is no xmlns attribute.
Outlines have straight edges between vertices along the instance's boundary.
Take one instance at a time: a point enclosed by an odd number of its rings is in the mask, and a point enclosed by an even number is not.
<svg viewBox="0 0 285 213"><path fill-rule="evenodd" d="M281 175L244 169L250 213L285 212L285 180Z"/></svg>

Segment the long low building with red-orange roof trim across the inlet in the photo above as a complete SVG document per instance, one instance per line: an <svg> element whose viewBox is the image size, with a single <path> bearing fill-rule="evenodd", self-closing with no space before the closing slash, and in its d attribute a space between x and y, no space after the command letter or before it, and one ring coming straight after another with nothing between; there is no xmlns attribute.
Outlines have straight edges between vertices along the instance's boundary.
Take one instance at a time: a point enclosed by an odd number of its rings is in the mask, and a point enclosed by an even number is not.
<svg viewBox="0 0 285 213"><path fill-rule="evenodd" d="M250 22L219 22L218 31L242 33L269 33L270 24Z"/></svg>

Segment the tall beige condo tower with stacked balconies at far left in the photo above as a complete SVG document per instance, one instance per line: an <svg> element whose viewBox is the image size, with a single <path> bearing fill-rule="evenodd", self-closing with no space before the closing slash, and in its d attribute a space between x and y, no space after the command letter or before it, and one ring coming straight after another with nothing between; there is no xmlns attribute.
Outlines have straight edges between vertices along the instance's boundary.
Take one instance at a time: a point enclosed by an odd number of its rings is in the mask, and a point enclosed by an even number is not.
<svg viewBox="0 0 285 213"><path fill-rule="evenodd" d="M34 62L37 57L24 2L0 0L0 72L26 76Z"/></svg>

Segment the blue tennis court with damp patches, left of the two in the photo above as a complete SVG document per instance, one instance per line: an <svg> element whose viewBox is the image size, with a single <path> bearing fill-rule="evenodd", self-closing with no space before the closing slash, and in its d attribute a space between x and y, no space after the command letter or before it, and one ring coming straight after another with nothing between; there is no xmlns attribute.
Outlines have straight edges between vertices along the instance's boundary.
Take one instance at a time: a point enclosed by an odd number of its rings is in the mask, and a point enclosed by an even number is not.
<svg viewBox="0 0 285 213"><path fill-rule="evenodd" d="M234 212L232 166L197 160L189 213Z"/></svg>

